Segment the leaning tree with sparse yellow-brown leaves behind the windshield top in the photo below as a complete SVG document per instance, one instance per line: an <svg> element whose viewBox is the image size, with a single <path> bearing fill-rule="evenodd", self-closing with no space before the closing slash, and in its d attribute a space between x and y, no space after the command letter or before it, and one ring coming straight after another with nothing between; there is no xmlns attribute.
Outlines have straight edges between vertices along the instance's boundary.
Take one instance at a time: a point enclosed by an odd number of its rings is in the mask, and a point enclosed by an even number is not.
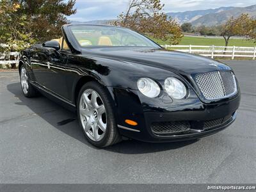
<svg viewBox="0 0 256 192"><path fill-rule="evenodd" d="M122 12L112 24L179 44L183 36L180 26L161 12L163 7L160 0L130 0L127 12Z"/></svg>

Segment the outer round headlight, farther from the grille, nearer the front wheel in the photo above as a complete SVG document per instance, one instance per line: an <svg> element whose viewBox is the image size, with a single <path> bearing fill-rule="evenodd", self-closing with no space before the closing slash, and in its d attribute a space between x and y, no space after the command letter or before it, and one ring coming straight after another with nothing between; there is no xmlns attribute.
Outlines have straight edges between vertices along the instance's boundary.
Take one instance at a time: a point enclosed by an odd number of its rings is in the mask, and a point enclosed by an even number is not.
<svg viewBox="0 0 256 192"><path fill-rule="evenodd" d="M160 93L160 88L158 84L149 78L140 78L137 81L138 88L143 95L147 97L154 98Z"/></svg>

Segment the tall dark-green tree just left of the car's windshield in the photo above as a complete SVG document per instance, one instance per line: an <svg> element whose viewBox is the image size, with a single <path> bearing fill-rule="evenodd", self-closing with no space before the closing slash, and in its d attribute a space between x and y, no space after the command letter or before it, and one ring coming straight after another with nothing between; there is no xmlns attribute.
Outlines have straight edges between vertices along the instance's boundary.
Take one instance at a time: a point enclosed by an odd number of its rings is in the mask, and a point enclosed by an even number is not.
<svg viewBox="0 0 256 192"><path fill-rule="evenodd" d="M40 42L59 38L61 26L67 24L66 16L76 13L76 0L13 0L19 3L17 15L26 15L29 22L27 28L33 38Z"/></svg>

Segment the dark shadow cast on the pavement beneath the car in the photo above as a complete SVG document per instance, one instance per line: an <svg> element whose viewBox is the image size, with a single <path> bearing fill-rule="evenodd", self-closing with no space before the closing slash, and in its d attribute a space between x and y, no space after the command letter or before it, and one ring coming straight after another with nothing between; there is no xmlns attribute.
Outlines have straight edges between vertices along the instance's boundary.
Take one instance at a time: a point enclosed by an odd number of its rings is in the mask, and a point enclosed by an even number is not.
<svg viewBox="0 0 256 192"><path fill-rule="evenodd" d="M88 145L88 147L95 148L84 138L83 131L77 122L76 113L68 111L68 109L63 108L44 96L38 96L35 98L24 97L22 90L20 89L20 83L8 84L7 90L14 95L13 97L17 98L17 102L15 102L15 104L28 107L31 109L31 111L33 111L33 113L35 113L35 115L40 116L40 118L43 118L56 129L76 140L81 141L82 143ZM195 143L196 141L198 140L173 143L145 143L136 140L126 140L102 150L122 154L145 154L182 148L186 145ZM95 149L99 150L99 148Z"/></svg>

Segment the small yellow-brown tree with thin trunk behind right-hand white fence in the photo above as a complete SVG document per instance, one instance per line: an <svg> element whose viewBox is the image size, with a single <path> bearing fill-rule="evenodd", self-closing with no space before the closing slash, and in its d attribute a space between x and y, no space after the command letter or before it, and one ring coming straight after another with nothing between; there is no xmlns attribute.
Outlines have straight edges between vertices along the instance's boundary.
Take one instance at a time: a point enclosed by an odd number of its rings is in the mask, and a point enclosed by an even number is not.
<svg viewBox="0 0 256 192"><path fill-rule="evenodd" d="M248 22L251 22L248 14L241 14L239 17L231 17L226 24L224 24L221 31L221 35L225 39L225 46L228 46L228 41L231 36L235 35L247 35L248 34ZM227 48L225 48L226 50Z"/></svg>

